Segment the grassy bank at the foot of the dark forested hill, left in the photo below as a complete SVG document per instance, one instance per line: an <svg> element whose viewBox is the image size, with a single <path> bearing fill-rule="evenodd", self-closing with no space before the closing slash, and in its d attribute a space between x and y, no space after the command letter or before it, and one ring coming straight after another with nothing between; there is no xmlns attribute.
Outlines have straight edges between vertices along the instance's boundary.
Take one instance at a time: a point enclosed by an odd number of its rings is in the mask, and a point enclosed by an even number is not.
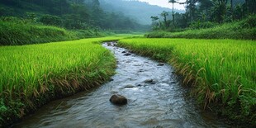
<svg viewBox="0 0 256 128"><path fill-rule="evenodd" d="M68 31L17 17L0 19L0 45L28 45L100 36L105 36L105 33L92 30Z"/></svg>

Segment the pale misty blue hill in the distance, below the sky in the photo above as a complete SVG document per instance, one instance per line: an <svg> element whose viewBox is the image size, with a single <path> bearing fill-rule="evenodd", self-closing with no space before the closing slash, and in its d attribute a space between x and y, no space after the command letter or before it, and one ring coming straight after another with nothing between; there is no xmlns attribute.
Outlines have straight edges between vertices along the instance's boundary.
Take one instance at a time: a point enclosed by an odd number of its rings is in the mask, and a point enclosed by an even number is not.
<svg viewBox="0 0 256 128"><path fill-rule="evenodd" d="M128 17L134 18L140 24L151 24L150 17L159 16L161 12L172 12L170 8L150 5L147 2L137 0L100 0L101 7L107 12L121 12ZM171 4L171 3L169 3ZM183 13L183 10L175 10L174 12Z"/></svg>

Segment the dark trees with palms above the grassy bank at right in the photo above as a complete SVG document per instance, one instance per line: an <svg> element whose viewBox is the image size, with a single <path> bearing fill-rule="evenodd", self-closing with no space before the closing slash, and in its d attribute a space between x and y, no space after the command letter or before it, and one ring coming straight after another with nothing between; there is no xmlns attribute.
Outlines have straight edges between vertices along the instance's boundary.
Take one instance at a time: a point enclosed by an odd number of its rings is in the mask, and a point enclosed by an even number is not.
<svg viewBox="0 0 256 128"><path fill-rule="evenodd" d="M239 21L256 13L255 0L169 0L186 7L185 13L162 12L152 16L153 30L183 31L187 28L200 29Z"/></svg>

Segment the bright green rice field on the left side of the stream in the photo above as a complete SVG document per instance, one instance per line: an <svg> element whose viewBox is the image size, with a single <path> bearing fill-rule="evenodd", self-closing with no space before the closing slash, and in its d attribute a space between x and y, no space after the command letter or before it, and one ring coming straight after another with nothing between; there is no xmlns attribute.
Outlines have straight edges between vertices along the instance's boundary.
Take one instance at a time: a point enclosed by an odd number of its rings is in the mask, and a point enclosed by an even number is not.
<svg viewBox="0 0 256 128"><path fill-rule="evenodd" d="M0 127L46 102L97 87L116 59L96 42L122 37L0 47Z"/></svg>

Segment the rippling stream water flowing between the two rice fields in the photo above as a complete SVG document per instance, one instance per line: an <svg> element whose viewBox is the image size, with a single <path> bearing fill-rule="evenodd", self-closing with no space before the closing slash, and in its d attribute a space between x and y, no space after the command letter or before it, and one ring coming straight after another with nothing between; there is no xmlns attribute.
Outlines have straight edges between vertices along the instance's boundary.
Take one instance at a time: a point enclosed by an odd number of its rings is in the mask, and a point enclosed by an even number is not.
<svg viewBox="0 0 256 128"><path fill-rule="evenodd" d="M188 90L178 83L168 64L159 66L149 58L126 56L125 49L103 46L118 62L113 81L91 92L50 102L12 127L231 127L201 111L195 100L187 97ZM145 83L149 79L151 83ZM127 97L127 105L111 104L113 94Z"/></svg>

